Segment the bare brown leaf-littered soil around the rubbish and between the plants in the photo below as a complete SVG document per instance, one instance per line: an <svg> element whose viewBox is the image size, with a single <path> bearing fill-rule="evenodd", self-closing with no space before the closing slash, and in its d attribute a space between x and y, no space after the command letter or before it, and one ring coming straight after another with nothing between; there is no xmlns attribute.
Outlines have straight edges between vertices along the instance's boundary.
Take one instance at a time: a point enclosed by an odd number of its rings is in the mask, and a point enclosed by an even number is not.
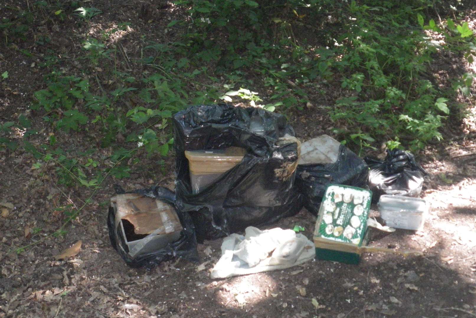
<svg viewBox="0 0 476 318"><path fill-rule="evenodd" d="M19 2L9 5L27 6ZM140 34L163 37L161 29L174 14L159 6L153 7L152 12L143 11L138 1L121 6L93 2L91 6L104 12L101 22L93 27L106 28L114 21L133 22L135 33L126 34L120 42L130 56L140 54L136 45ZM44 142L50 128L42 122L41 114L28 110L33 92L43 88L46 71L38 63L46 49L73 60L85 37L85 30L78 28L74 20L60 24L47 21L28 33L29 40L0 47L0 70L8 70L10 75L8 83L2 82L0 87L1 122L26 114L40 131L38 142ZM90 30L93 31L94 28ZM49 34L55 40L46 47L38 46L33 38L41 34ZM22 49L33 54L26 56ZM62 69L69 74L89 67L62 63ZM447 59L441 63L451 69L445 63L454 62ZM127 68L125 64L120 67ZM474 103L474 99L465 102ZM314 104L319 105L319 101ZM57 185L53 173L38 177L37 170L31 168L36 160L21 148L2 149L0 202L7 205L0 208L7 212L0 216L0 317L475 317L474 104L470 104L469 112L471 115L462 124L447 125L443 143L427 147L418 158L429 173L422 193L430 205L424 230L371 232L371 246L417 250L424 256L367 253L358 265L312 261L283 271L225 280L209 277L209 269L220 257L222 240L198 245L200 263L176 260L164 262L152 271L127 267L110 246L106 216L108 200L114 192L112 185L119 183L126 189L171 186L173 156L163 173L144 155L140 166L143 169L134 170L131 178L105 181L93 202L68 226L65 236L45 239L23 253L11 253L59 228L62 219L56 207L80 207L88 196L81 188L66 190ZM301 140L329 132L326 114L318 107L292 112L289 117ZM73 133L70 137L72 153L98 142L94 131ZM100 157L100 153L96 155ZM373 209L373 215L378 216L375 206ZM312 240L315 222L316 217L303 209L268 228L292 228L298 224L305 227L303 233ZM37 227L42 231L32 233ZM82 248L76 256L64 261L54 259L78 240L82 240ZM204 270L199 270L200 264L205 264Z"/></svg>

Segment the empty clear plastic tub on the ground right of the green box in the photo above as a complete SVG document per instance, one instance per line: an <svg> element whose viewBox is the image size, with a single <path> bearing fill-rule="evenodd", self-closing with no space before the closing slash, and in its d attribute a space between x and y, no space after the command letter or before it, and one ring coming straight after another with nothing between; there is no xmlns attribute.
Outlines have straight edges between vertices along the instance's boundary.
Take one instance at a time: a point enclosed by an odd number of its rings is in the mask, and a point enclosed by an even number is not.
<svg viewBox="0 0 476 318"><path fill-rule="evenodd" d="M420 231L428 206L424 199L408 196L380 196L378 211L388 226Z"/></svg>

